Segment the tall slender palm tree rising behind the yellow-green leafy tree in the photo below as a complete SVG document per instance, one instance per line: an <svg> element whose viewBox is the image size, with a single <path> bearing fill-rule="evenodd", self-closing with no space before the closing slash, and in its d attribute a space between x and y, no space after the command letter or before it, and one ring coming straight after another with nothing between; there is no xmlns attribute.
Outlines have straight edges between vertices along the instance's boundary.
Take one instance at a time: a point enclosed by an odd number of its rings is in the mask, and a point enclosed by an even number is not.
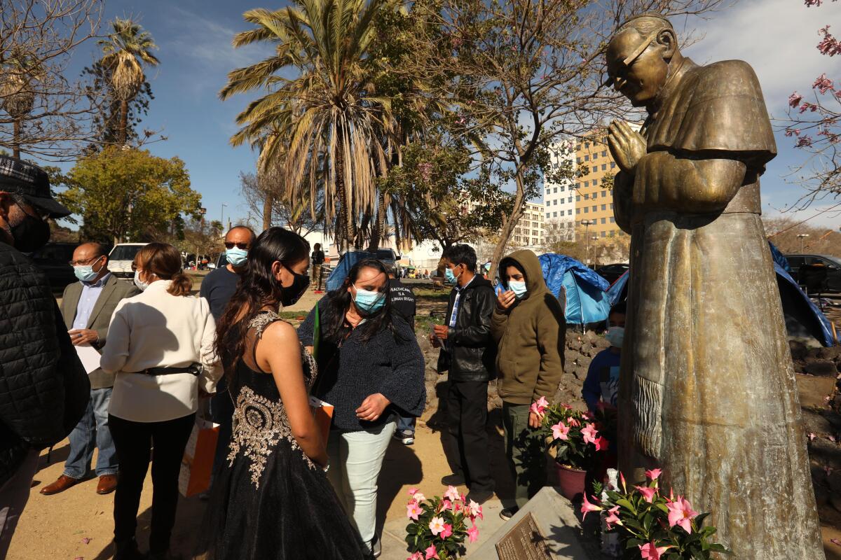
<svg viewBox="0 0 841 560"><path fill-rule="evenodd" d="M114 32L108 35L108 39L100 40L99 44L103 48L102 64L108 69L111 89L119 99L117 141L124 145L129 127L129 103L146 79L143 64L156 66L160 61L151 53L158 48L155 41L140 24L131 19L114 18L111 28Z"/></svg>

